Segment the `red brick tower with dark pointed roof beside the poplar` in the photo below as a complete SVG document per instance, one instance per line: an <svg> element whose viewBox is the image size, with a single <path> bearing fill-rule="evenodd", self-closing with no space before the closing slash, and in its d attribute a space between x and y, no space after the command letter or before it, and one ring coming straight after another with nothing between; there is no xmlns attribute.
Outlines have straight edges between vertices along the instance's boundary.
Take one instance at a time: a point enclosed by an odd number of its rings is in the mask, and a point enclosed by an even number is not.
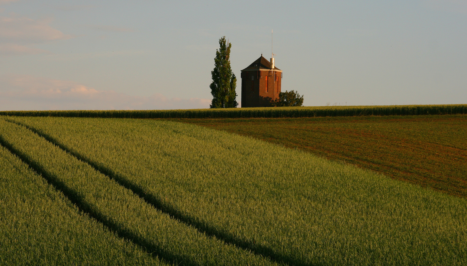
<svg viewBox="0 0 467 266"><path fill-rule="evenodd" d="M274 66L274 58L260 58L241 71L241 107L269 107L279 98L282 70Z"/></svg>

